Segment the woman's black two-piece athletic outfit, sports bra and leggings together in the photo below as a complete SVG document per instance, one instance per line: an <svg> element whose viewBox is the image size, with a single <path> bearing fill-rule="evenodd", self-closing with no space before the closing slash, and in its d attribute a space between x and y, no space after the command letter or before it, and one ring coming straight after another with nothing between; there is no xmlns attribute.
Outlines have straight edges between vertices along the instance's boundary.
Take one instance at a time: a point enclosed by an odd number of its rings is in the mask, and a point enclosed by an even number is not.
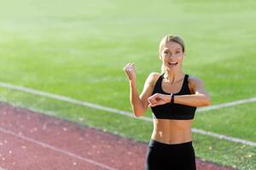
<svg viewBox="0 0 256 170"><path fill-rule="evenodd" d="M162 88L164 74L160 75L154 85L153 94L168 94ZM174 95L191 94L189 75L185 75L181 90ZM196 107L167 103L151 107L156 119L191 120ZM182 144L164 144L151 139L148 144L146 170L195 170L195 151L192 141Z"/></svg>

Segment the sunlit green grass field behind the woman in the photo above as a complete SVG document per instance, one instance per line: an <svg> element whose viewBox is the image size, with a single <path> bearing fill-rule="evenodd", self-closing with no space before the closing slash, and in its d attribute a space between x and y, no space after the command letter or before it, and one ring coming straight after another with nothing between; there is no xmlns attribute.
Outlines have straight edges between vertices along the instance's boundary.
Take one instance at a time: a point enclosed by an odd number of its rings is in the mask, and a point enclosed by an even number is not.
<svg viewBox="0 0 256 170"><path fill-rule="evenodd" d="M15 4L15 5L14 5ZM137 65L137 85L160 71L160 39L181 35L183 71L200 77L212 105L256 96L254 1L2 2L0 82L131 111L122 71ZM0 88L0 100L148 142L152 123ZM193 127L256 141L255 103L196 114ZM148 110L146 116L151 116ZM193 134L198 157L256 169L256 148Z"/></svg>

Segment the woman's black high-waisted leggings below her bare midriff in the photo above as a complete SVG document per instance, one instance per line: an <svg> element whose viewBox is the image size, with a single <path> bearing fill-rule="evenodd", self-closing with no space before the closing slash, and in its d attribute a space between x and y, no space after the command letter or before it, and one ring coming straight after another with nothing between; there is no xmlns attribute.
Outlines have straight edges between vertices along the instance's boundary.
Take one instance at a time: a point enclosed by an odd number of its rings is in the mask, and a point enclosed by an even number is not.
<svg viewBox="0 0 256 170"><path fill-rule="evenodd" d="M151 139L148 144L146 170L196 170L192 141L164 144Z"/></svg>

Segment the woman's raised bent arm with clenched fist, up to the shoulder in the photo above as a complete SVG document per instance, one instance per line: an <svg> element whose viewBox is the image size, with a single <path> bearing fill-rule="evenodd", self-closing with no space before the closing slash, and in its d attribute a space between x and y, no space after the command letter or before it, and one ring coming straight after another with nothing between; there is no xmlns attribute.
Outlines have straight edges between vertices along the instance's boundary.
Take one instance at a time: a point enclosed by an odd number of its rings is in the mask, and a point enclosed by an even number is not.
<svg viewBox="0 0 256 170"><path fill-rule="evenodd" d="M130 82L130 102L132 111L134 115L137 117L143 116L143 114L148 108L148 97L153 92L155 77L156 75L158 75L158 73L151 73L148 76L144 84L143 93L139 95L137 93L135 65L133 63L125 65L124 71L128 76Z"/></svg>

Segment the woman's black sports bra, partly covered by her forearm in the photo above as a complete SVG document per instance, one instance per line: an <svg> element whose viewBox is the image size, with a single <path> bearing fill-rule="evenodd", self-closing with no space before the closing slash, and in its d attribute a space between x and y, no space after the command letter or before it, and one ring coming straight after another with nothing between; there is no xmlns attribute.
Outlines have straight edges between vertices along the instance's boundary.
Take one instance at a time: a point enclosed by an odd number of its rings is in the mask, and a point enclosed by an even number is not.
<svg viewBox="0 0 256 170"><path fill-rule="evenodd" d="M157 82L154 85L153 94L167 94L164 92L162 88L162 81L163 81L164 74L162 74ZM174 95L184 95L184 94L191 94L189 90L189 75L185 75L183 79L183 86L181 90ZM156 105L151 107L153 111L153 117L157 119L177 119L177 120L189 120L193 119L195 116L196 107L192 107L189 105L179 105L179 104L171 104L167 103L165 105Z"/></svg>

